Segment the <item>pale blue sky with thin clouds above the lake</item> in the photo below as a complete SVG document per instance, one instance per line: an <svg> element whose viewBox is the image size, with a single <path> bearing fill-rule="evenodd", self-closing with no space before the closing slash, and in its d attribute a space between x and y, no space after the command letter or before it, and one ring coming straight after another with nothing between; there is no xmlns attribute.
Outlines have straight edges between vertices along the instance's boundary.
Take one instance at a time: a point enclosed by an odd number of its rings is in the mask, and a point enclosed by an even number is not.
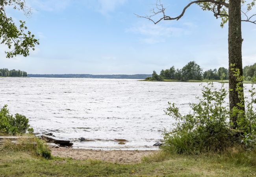
<svg viewBox="0 0 256 177"><path fill-rule="evenodd" d="M180 20L153 24L156 0L26 0L32 15L7 8L7 16L26 21L40 45L28 57L7 59L0 45L0 68L28 74L151 74L195 61L203 70L228 68L228 26L202 11L187 9ZM189 0L162 0L170 16ZM256 10L254 9L256 12ZM17 23L18 24L18 23ZM256 63L256 25L242 22L243 66Z"/></svg>

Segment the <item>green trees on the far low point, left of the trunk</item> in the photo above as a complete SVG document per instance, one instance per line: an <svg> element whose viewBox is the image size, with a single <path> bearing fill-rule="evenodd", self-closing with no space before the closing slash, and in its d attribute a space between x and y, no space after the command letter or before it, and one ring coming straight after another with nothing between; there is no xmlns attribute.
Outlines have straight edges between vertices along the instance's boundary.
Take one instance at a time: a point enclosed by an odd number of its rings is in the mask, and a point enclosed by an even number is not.
<svg viewBox="0 0 256 177"><path fill-rule="evenodd" d="M172 66L170 69L161 70L158 75L156 71L153 71L151 77L147 77L146 80L151 81L163 81L164 79L175 79L179 81L187 81L187 80L219 80L221 76L223 79L228 79L228 69L221 67L218 70L207 70L203 73L202 68L195 63L195 61L190 61L185 65L182 69L175 69Z"/></svg>

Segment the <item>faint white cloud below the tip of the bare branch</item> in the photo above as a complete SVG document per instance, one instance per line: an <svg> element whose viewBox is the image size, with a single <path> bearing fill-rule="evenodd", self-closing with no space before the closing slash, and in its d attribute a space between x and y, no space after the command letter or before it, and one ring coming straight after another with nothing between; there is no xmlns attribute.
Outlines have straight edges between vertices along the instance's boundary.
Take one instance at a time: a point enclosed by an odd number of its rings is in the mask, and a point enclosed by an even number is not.
<svg viewBox="0 0 256 177"><path fill-rule="evenodd" d="M165 27L155 24L143 24L126 29L126 32L132 32L145 37L139 38L139 41L147 44L165 42L169 37L179 37L189 34L189 31L183 28Z"/></svg>

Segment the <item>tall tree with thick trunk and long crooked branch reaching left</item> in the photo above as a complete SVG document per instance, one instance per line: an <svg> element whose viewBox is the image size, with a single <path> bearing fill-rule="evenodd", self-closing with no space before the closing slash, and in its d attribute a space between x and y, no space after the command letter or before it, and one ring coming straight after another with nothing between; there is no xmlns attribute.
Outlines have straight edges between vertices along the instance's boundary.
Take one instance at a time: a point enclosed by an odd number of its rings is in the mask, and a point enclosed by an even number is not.
<svg viewBox="0 0 256 177"><path fill-rule="evenodd" d="M250 3L247 3L247 11L242 12L245 15L245 19L241 19L241 4L246 4L246 0L193 0L184 7L182 13L177 17L167 16L165 13L165 7L161 4L160 0L157 0L156 7L153 8L152 15L150 16L140 16L137 17L147 18L148 20L157 24L161 20L179 20L183 17L186 12L186 9L189 8L192 4L197 4L202 7L204 11L212 11L213 15L216 18L221 18L221 27L224 26L228 22L228 63L229 63L229 102L230 102L230 110L233 110L237 104L240 103L240 100L243 98L239 98L238 93L236 91L236 85L238 83L236 77L232 73L232 66L235 66L239 69L240 76L243 76L243 66L242 66L242 32L241 32L241 21L251 22L256 24L256 20L252 18L256 17L254 15L248 15L249 11L256 5L256 0L250 0ZM136 14L135 14L136 15ZM161 15L160 18L154 20L154 17L157 15ZM232 65L232 66L231 66ZM243 85L241 85L243 87ZM245 106L242 105L239 109L244 110ZM237 127L237 115L230 116L230 122L232 122L231 127Z"/></svg>

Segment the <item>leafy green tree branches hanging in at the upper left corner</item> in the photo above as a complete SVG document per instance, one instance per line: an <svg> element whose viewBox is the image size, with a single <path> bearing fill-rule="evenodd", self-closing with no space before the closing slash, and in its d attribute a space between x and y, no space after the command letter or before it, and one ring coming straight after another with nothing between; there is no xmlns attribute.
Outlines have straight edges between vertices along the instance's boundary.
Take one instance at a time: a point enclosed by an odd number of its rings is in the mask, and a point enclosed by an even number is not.
<svg viewBox="0 0 256 177"><path fill-rule="evenodd" d="M31 9L26 7L24 0L0 0L0 43L6 44L9 51L5 52L7 58L17 55L24 57L29 55L29 50L35 50L35 45L39 44L35 35L31 34L25 26L25 21L20 20L17 27L11 17L7 17L6 8L12 7L23 11L24 15L29 16Z"/></svg>

